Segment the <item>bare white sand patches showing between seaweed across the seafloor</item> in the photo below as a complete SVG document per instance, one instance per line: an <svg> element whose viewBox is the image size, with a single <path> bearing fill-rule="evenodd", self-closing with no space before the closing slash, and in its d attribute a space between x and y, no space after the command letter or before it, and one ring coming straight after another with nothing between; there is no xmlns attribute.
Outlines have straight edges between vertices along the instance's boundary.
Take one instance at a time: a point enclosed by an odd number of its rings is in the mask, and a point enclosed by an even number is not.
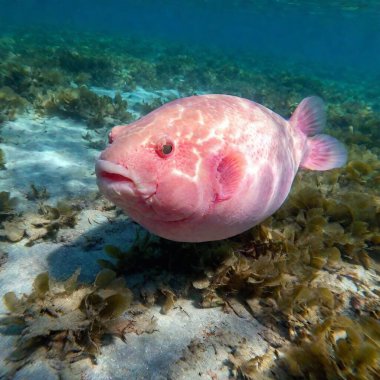
<svg viewBox="0 0 380 380"><path fill-rule="evenodd" d="M111 90L93 88L98 94L113 96ZM133 108L138 103L155 97L178 97L178 93L164 90L150 93L138 88L125 93ZM139 114L134 113L137 118ZM26 200L30 184L46 187L50 193L48 204L64 198L85 199L97 190L94 161L98 150L91 149L82 138L86 125L58 117L39 117L26 113L3 126L1 144L7 159L7 170L1 171L0 190L10 191L19 199L19 209L28 210L35 203ZM104 138L106 140L106 131ZM91 203L90 203L91 204ZM111 213L112 214L112 213ZM135 225L127 216L112 215L86 207L80 211L74 229L62 229L57 242L42 241L31 247L27 239L18 243L2 241L0 249L8 254L0 269L2 295L30 293L36 275L48 271L56 279L65 279L78 267L80 280L92 282L100 267L97 259L105 258L105 244L127 246L135 236ZM366 276L364 270L359 274ZM355 283L344 278L335 286L342 290L358 291ZM0 302L0 312L6 312ZM268 328L248 312L237 315L220 308L197 308L190 300L179 300L169 314L160 313L155 306L151 314L157 320L157 331L152 334L128 334L126 343L114 339L102 347L97 365L89 360L81 363L78 378L83 379L227 379L230 378L228 355L233 347L244 342L247 357L263 355L269 348ZM0 368L6 368L6 357L12 351L14 336L0 339ZM201 343L195 354L189 345ZM181 357L186 360L181 360ZM59 366L59 365L58 365ZM217 377L215 377L217 376ZM1 372L0 372L1 377ZM58 379L58 371L48 361L33 362L19 370L15 379Z"/></svg>

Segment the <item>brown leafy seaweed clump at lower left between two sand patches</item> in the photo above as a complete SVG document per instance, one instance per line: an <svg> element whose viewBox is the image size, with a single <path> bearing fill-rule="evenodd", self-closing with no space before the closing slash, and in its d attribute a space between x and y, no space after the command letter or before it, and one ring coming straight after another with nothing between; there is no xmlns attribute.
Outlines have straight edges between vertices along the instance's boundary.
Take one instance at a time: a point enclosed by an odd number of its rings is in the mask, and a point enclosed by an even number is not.
<svg viewBox="0 0 380 380"><path fill-rule="evenodd" d="M8 375L39 358L69 363L90 358L96 362L106 336L124 340L127 333L153 332L154 321L142 316L124 318L132 292L122 277L105 269L93 284L78 283L79 270L65 281L39 274L33 291L20 298L8 292L8 313L0 319L3 333L18 335L8 357Z"/></svg>

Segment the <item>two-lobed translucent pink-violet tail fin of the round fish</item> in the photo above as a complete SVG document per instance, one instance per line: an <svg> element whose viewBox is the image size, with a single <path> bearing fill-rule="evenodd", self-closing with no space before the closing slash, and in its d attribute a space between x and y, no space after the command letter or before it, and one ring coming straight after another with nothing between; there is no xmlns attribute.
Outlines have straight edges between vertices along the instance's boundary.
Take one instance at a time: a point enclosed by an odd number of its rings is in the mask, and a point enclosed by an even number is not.
<svg viewBox="0 0 380 380"><path fill-rule="evenodd" d="M326 124L323 100L317 96L305 98L290 118L290 124L307 136L322 132ZM301 166L311 170L339 168L347 162L345 146L334 137L317 134L307 139Z"/></svg>

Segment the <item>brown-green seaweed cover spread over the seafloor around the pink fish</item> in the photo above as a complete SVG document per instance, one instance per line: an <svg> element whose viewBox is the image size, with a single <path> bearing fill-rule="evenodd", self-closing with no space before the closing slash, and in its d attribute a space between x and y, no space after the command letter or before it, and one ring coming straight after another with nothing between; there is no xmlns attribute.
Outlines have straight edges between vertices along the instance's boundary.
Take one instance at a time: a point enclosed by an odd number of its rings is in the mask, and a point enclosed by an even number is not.
<svg viewBox="0 0 380 380"><path fill-rule="evenodd" d="M57 371L70 378L73 363L85 358L96 363L109 337L154 334L153 307L170 315L186 299L197 308L220 308L265 327L264 354L252 356L247 342L232 347L231 337L225 338L229 357L221 366L231 378L378 378L380 82L358 79L349 70L336 79L331 70L291 61L279 65L253 53L236 57L162 41L71 32L8 31L0 37L0 58L4 145L7 122L36 113L85 123L83 144L101 149L109 127L162 104L155 98L132 108L123 94L143 88L171 89L180 96L228 93L284 116L305 96L319 95L328 104L328 133L349 150L344 168L300 171L283 207L240 236L181 244L136 228L131 244L104 246L92 284L81 283L79 272L65 281L45 272L30 294L4 294L8 311L0 331L17 339L3 376L11 378L46 357L60 361ZM112 89L114 95L99 95L93 88ZM0 173L6 171L7 157L0 150ZM109 222L120 218L98 196L67 200L62 194L50 202L48 189L29 186L23 200L12 189L0 189L0 274L7 268L7 246L57 241L62 231L76 228L86 208L108 213ZM19 201L31 204L32 211L18 209ZM88 252L97 244L92 239ZM88 260L94 259L88 255ZM201 340L192 341L177 368L186 374L205 351ZM178 373L172 378L180 378Z"/></svg>

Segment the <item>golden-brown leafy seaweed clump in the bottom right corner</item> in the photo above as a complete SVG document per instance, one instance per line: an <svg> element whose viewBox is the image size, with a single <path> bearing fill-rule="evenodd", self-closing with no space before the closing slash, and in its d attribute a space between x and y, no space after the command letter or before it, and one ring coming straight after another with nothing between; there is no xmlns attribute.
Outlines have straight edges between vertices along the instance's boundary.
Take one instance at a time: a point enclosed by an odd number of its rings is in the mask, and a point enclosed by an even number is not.
<svg viewBox="0 0 380 380"><path fill-rule="evenodd" d="M380 324L334 316L315 325L285 351L284 362L297 378L376 379L380 371Z"/></svg>

